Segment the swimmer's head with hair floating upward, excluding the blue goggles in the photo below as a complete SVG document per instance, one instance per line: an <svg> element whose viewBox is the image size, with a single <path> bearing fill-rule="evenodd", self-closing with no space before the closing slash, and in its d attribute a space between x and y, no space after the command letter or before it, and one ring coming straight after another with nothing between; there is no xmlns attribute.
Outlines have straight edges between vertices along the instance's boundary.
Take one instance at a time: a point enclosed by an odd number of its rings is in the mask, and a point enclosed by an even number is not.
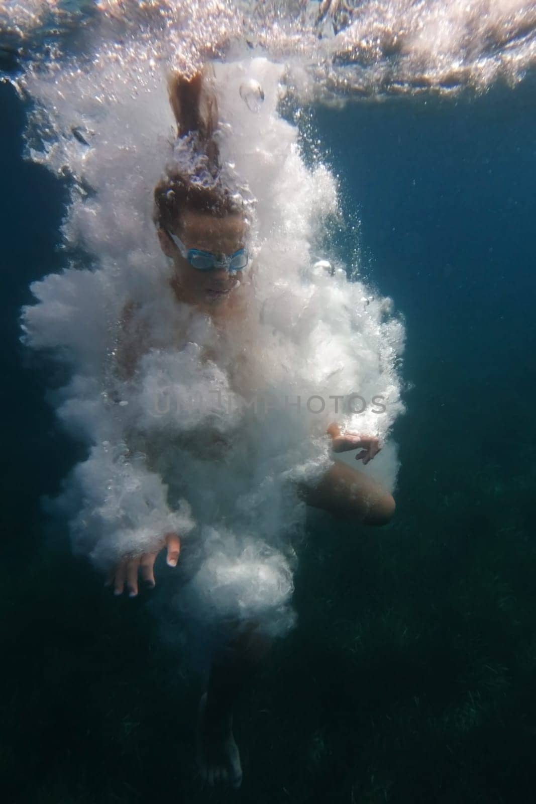
<svg viewBox="0 0 536 804"><path fill-rule="evenodd" d="M231 256L244 247L248 225L239 195L223 184L215 141L218 106L207 72L190 79L174 74L169 92L178 136L174 161L154 190L158 240L173 260L173 284L182 299L201 308L222 306L239 285L239 272L194 268L171 235L186 249Z"/></svg>

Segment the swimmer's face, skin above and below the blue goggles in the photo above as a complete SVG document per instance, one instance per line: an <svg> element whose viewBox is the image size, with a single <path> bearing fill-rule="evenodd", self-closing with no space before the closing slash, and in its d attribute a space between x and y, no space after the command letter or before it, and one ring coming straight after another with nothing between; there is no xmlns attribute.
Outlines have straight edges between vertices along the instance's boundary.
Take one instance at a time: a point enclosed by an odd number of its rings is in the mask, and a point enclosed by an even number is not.
<svg viewBox="0 0 536 804"><path fill-rule="evenodd" d="M173 234L182 240L186 248L231 255L245 245L246 222L242 215L216 218L207 212L186 211ZM248 270L233 273L224 268L200 271L190 265L162 229L158 232L158 238L163 252L174 262L174 285L178 286L184 301L195 306L224 306L243 281L243 273Z"/></svg>

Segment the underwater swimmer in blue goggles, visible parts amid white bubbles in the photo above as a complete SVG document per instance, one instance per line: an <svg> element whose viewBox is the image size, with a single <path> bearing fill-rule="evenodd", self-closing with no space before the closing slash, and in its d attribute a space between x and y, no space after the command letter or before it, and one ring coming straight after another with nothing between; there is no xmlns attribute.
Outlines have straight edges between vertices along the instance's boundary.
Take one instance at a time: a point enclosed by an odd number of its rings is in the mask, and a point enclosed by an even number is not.
<svg viewBox="0 0 536 804"><path fill-rule="evenodd" d="M211 316L223 334L232 322L252 321L255 316L252 285L246 250L248 225L239 202L218 183L218 151L213 134L217 125L215 98L207 89L203 75L186 80L174 76L170 82L170 102L178 125L178 137L190 137L191 146L203 155L199 175L168 170L155 188L155 224L162 251L173 261L170 287L178 303ZM129 329L133 306L125 307L123 324ZM241 330L242 331L242 330ZM141 338L127 343L121 351L123 369L134 371L143 352ZM245 343L245 342L244 342ZM178 347L181 345L178 344ZM217 355L211 354L217 360ZM364 464L378 452L378 439L356 433L342 433L329 425L333 452L361 447L356 456ZM391 494L341 461L315 486L299 487L305 503L351 518L355 523L387 523L395 510ZM161 548L167 564L175 567L181 552L181 534L167 533ZM125 588L131 597L138 593L138 576L153 586L157 552L128 556L113 568L108 585L117 595ZM266 657L271 638L256 622L222 624L222 645L212 658L207 691L199 704L197 758L203 780L209 784L239 787L242 781L239 751L232 732L235 701Z"/></svg>

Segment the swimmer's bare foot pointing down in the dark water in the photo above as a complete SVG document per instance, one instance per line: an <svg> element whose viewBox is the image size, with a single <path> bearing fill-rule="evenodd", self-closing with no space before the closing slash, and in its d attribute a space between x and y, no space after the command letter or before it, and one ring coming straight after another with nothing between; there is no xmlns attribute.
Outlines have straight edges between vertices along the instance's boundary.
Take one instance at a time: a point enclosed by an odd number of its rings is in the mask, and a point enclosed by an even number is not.
<svg viewBox="0 0 536 804"><path fill-rule="evenodd" d="M207 707L207 693L199 701L196 748L199 772L209 785L242 784L242 765L232 733L232 716L213 716Z"/></svg>

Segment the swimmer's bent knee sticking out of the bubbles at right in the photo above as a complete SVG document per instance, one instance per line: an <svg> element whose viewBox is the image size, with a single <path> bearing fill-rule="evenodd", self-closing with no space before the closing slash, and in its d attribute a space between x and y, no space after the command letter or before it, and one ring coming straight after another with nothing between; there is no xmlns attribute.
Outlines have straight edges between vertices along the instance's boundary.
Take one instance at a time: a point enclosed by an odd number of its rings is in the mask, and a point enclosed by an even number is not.
<svg viewBox="0 0 536 804"><path fill-rule="evenodd" d="M315 486L300 483L298 492L310 506L366 525L385 525L395 513L395 500L383 486L342 461L334 461Z"/></svg>

